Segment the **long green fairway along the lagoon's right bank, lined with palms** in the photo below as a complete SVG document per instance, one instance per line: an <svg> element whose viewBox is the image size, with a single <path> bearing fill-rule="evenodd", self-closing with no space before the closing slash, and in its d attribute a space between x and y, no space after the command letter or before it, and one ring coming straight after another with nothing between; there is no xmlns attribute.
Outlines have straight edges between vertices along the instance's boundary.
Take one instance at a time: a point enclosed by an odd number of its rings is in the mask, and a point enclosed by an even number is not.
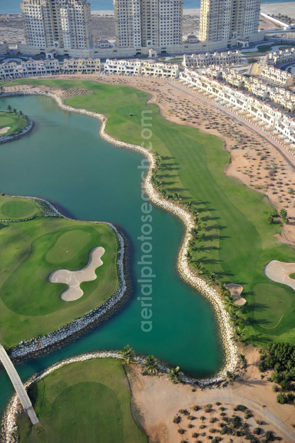
<svg viewBox="0 0 295 443"><path fill-rule="evenodd" d="M273 237L281 226L267 224L272 208L264 195L224 174L230 155L220 138L169 123L156 105L146 105L149 94L129 86L71 80L17 82L91 89L92 94L71 98L67 104L107 114L106 131L130 143L142 144L142 110L151 110L153 136L145 146L152 142L153 150L163 156L157 179L169 196L178 192L181 202L192 202L204 226L193 260L202 262L205 275L215 272L221 282L243 285L247 304L241 313L249 340L260 345L272 340L295 342L294 292L264 275L270 260L295 261L294 251ZM264 303L269 292L273 303ZM279 303L282 297L284 302ZM265 329L277 324L282 315L278 326Z"/></svg>

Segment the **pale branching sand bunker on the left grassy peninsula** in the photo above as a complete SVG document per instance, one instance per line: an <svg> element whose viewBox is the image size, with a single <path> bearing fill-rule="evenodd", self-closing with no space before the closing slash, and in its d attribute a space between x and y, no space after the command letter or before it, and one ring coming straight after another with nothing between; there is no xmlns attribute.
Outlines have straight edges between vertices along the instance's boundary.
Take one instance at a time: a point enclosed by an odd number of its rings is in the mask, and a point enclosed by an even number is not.
<svg viewBox="0 0 295 443"><path fill-rule="evenodd" d="M51 283L66 283L69 287L60 296L66 302L78 300L83 295L80 284L83 281L90 281L96 279L95 269L102 265L101 256L105 250L99 246L93 248L89 254L89 261L87 265L79 271L68 271L67 269L59 269L51 272L48 280Z"/></svg>

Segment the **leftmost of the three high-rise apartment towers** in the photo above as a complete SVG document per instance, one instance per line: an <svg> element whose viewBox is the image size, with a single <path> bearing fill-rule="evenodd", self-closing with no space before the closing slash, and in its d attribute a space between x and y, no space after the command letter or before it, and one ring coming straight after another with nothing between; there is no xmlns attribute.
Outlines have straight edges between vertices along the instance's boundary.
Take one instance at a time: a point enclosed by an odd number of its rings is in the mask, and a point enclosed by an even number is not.
<svg viewBox="0 0 295 443"><path fill-rule="evenodd" d="M33 47L93 47L87 0L23 0L26 44Z"/></svg>

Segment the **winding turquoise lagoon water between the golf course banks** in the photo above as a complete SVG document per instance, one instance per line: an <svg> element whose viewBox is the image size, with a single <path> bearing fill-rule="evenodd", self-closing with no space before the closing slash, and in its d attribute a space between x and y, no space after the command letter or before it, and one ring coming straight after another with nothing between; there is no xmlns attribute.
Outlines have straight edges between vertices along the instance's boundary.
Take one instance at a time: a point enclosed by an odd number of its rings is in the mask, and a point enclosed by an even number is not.
<svg viewBox="0 0 295 443"><path fill-rule="evenodd" d="M84 220L117 223L131 247L134 280L130 301L110 321L52 354L18 365L23 379L55 361L90 350L122 349L154 354L186 373L206 376L222 364L223 353L213 309L207 300L180 280L177 250L183 236L181 222L153 206L153 329L141 330L140 295L136 280L141 267L141 194L138 165L142 156L114 148L98 137L99 122L67 113L47 97L0 100L21 109L35 121L33 132L0 146L0 191L44 197ZM29 222L28 222L29 223ZM13 325L12 325L13 327ZM0 408L13 390L0 371Z"/></svg>

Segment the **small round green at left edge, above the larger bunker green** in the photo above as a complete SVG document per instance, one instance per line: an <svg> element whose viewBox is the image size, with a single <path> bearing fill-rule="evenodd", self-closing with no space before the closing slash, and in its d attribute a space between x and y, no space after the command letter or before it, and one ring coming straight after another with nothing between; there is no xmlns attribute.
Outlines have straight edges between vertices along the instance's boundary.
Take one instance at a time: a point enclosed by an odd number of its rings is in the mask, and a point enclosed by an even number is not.
<svg viewBox="0 0 295 443"><path fill-rule="evenodd" d="M28 198L0 196L1 220L24 220L34 217L39 211L37 203Z"/></svg>

